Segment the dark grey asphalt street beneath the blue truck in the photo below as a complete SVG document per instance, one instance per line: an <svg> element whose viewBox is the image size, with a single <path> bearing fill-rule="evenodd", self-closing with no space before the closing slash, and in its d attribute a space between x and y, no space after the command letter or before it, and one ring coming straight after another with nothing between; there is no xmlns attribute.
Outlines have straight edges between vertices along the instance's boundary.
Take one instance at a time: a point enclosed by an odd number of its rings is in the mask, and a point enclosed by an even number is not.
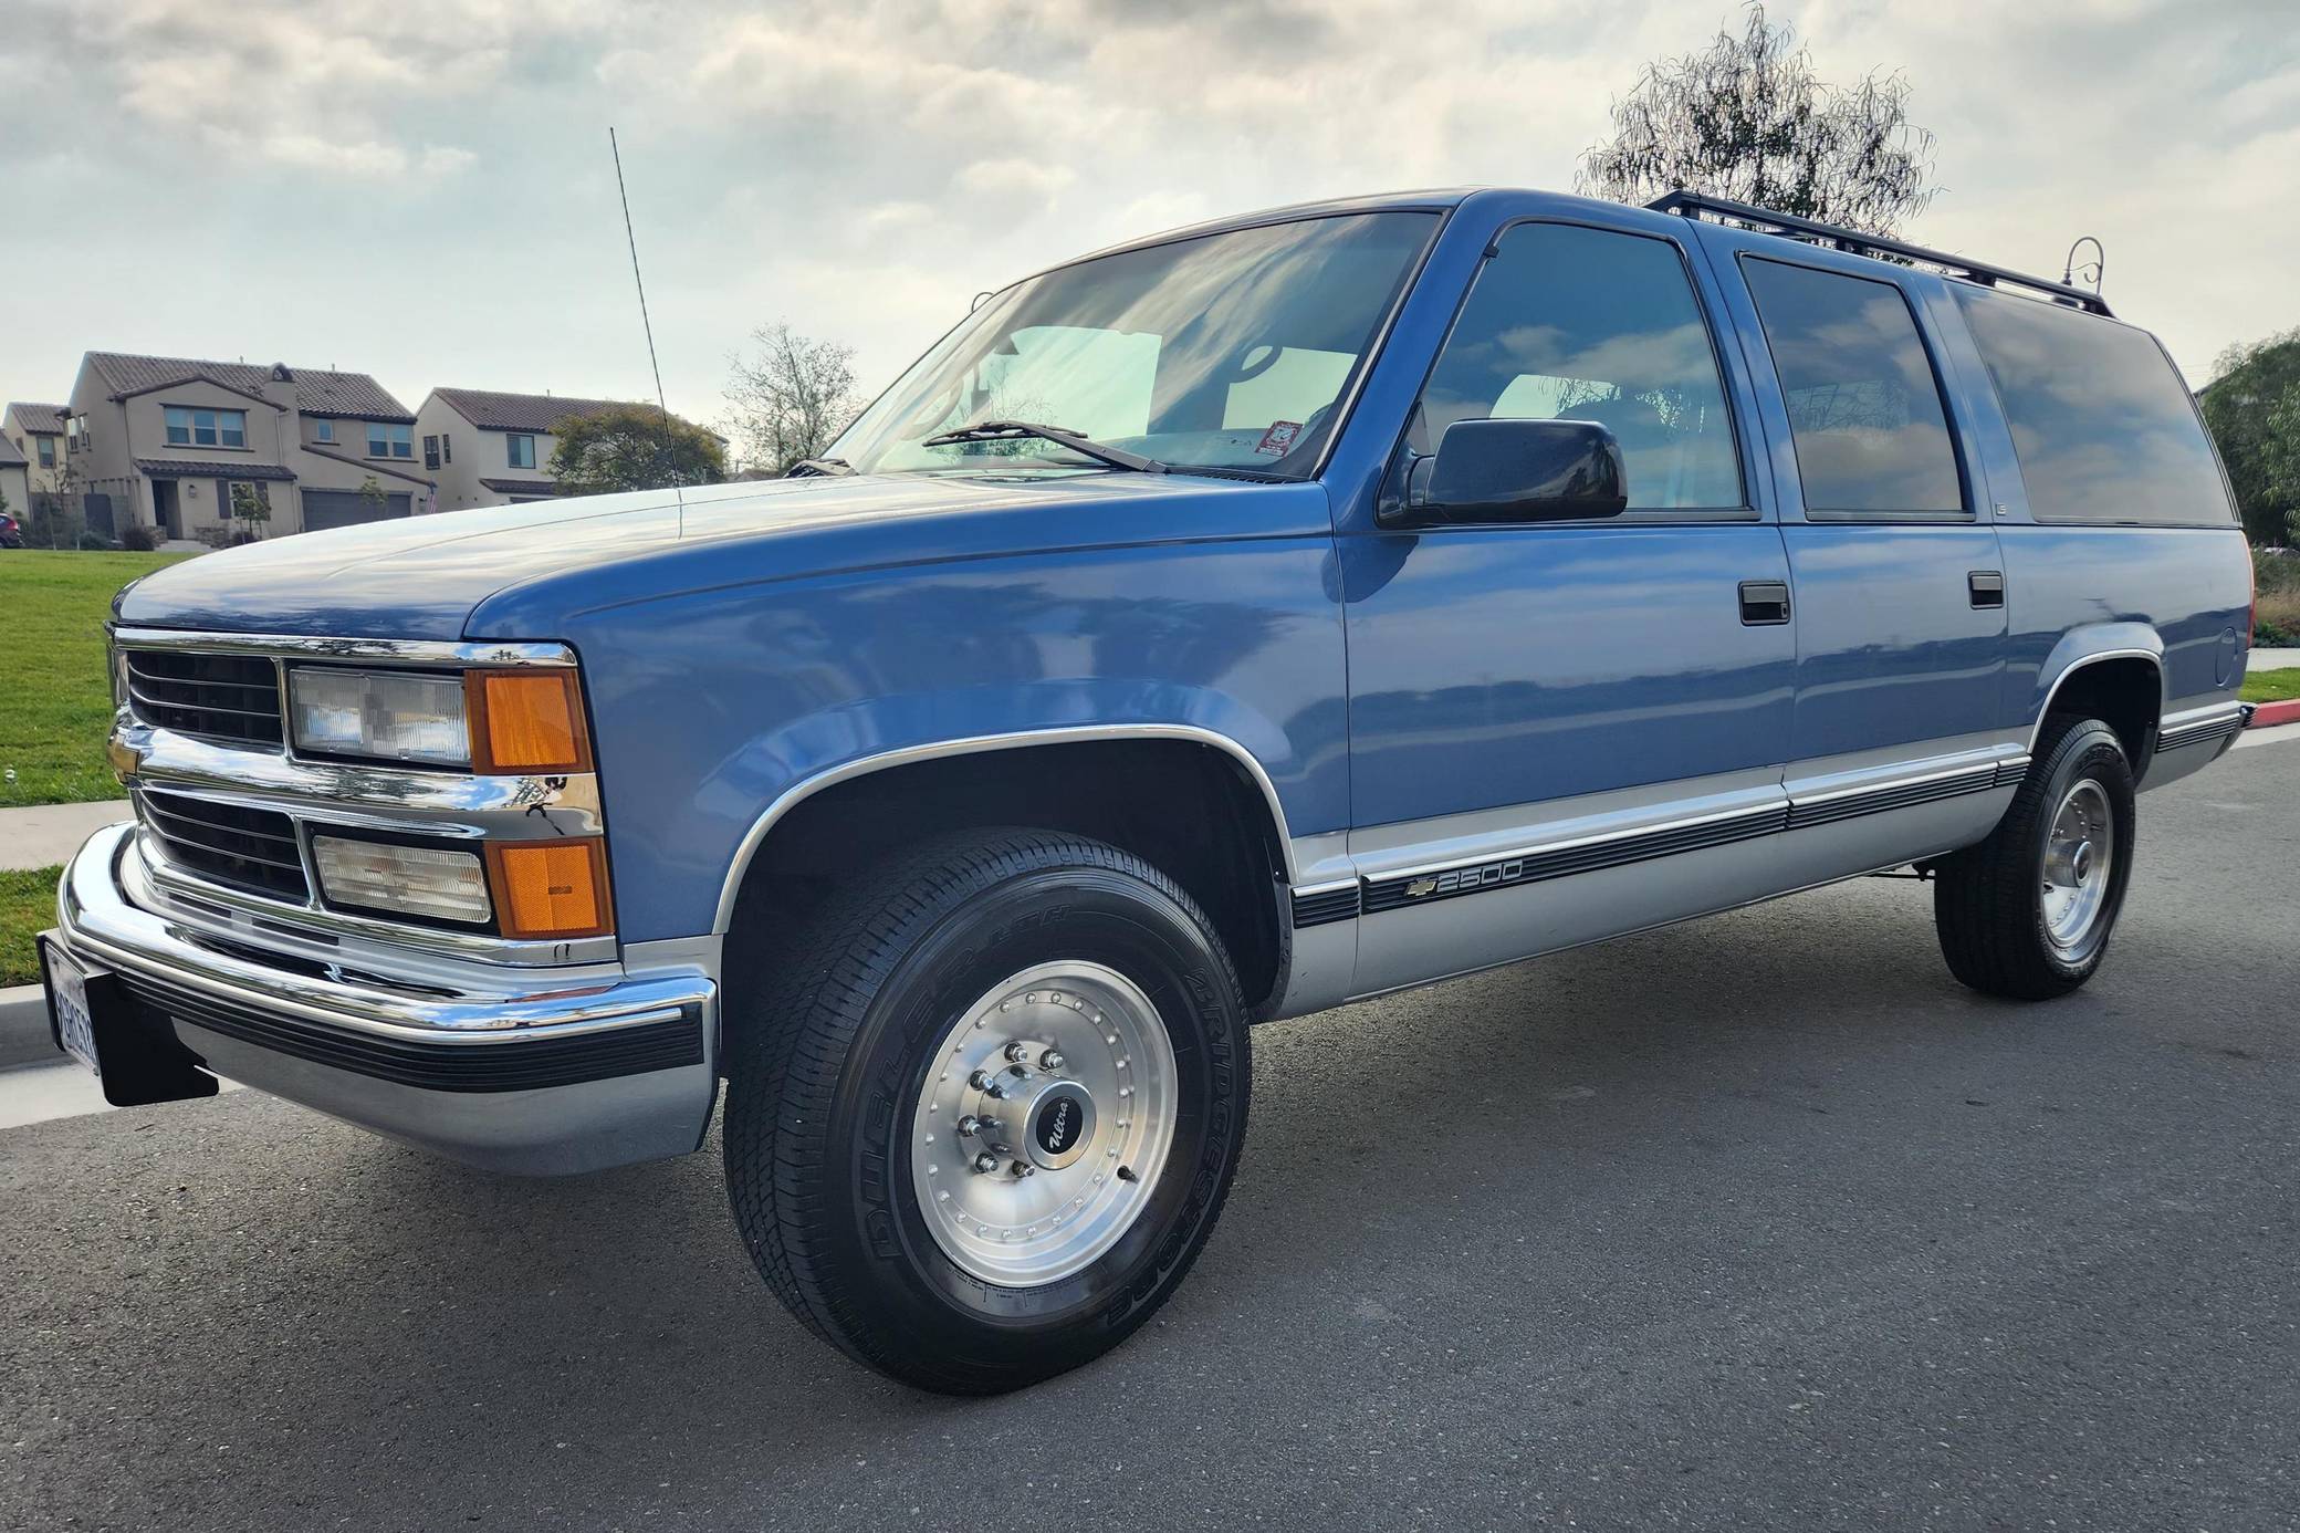
<svg viewBox="0 0 2300 1533"><path fill-rule="evenodd" d="M0 1526L2293 1528L2300 743L2139 854L2047 1006L1863 879L1263 1029L1180 1296L989 1402L787 1319L715 1142L0 1130Z"/></svg>

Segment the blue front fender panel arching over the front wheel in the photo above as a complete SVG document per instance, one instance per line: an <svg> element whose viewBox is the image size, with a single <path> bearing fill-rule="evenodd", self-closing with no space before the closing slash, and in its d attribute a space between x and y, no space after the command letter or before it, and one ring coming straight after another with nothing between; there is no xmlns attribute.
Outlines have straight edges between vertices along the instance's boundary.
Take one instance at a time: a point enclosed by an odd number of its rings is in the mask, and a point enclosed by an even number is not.
<svg viewBox="0 0 2300 1533"><path fill-rule="evenodd" d="M623 939L724 930L780 813L931 753L1201 739L1281 833L1343 829L1332 557L1329 534L1067 550L577 615Z"/></svg>

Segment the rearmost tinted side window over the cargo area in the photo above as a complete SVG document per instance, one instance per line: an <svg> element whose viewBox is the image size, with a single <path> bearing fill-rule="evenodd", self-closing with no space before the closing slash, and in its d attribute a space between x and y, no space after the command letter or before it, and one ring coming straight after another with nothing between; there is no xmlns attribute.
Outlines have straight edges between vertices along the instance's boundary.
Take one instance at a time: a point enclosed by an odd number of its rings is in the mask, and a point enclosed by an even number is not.
<svg viewBox="0 0 2300 1533"><path fill-rule="evenodd" d="M2236 518L2187 384L2146 331L1957 285L2045 523Z"/></svg>

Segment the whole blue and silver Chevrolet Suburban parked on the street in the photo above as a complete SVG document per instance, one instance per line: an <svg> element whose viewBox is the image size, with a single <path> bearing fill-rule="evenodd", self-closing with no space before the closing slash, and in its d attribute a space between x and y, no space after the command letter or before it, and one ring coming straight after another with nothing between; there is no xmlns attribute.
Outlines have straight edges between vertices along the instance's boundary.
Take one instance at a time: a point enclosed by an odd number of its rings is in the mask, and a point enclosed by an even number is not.
<svg viewBox="0 0 2300 1533"><path fill-rule="evenodd" d="M987 1393L1205 1245L1249 1024L1865 872L2102 962L2242 727L2249 562L2079 292L1447 191L982 299L791 476L120 594L57 1043L506 1172L704 1144L821 1337Z"/></svg>

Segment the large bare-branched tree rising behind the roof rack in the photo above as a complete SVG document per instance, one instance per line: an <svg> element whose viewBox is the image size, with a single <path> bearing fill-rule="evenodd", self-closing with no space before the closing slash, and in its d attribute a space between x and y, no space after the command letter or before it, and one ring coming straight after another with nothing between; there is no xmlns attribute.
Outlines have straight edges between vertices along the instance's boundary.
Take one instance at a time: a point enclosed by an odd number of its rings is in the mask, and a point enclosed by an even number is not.
<svg viewBox="0 0 2300 1533"><path fill-rule="evenodd" d="M1704 53L1644 69L1573 184L1619 203L1690 189L1895 235L1934 198L1932 143L1909 122L1900 74L1826 85L1796 32L1750 5L1739 37L1718 32Z"/></svg>

